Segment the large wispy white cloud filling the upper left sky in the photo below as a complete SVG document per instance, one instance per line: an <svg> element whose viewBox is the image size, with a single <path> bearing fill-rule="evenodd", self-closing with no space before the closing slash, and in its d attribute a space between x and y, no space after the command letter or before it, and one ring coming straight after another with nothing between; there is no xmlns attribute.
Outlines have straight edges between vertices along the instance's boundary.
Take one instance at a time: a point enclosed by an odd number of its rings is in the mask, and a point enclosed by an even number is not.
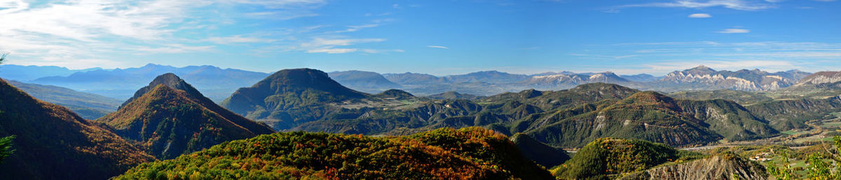
<svg viewBox="0 0 841 180"><path fill-rule="evenodd" d="M205 7L260 6L259 9L266 11L262 13L298 14L323 4L325 1L322 0L77 0L31 4L28 1L7 0L0 1L0 22L3 22L3 28L0 28L0 39L3 39L0 49L13 52L18 56L17 59L31 61L27 63L59 65L50 59L74 62L75 59L96 59L77 62L98 62L85 65L105 67L101 64L109 63L101 61L108 59L104 58L108 57L104 55L108 53L191 53L214 48L206 44L194 44L197 42L231 44L272 41L241 36L183 36L183 33L192 33L188 31L215 28L216 24L213 23L235 23L225 18L196 15L198 11L206 11L202 10Z"/></svg>

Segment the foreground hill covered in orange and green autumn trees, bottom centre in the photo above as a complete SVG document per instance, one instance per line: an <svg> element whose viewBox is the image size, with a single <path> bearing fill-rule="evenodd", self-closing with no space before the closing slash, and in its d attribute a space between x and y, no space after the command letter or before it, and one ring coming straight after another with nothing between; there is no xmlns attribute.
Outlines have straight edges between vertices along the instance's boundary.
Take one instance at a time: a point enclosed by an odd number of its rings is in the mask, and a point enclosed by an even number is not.
<svg viewBox="0 0 841 180"><path fill-rule="evenodd" d="M481 128L389 137L279 132L141 164L117 179L553 178L517 152L507 137Z"/></svg>

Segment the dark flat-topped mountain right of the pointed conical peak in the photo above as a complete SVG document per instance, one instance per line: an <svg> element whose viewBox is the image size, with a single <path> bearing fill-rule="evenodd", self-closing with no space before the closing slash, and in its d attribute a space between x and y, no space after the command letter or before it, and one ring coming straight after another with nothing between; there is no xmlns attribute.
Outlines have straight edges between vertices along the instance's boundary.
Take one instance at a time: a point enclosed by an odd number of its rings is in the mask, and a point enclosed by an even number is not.
<svg viewBox="0 0 841 180"><path fill-rule="evenodd" d="M362 99L371 95L351 90L316 69L283 69L248 88L236 90L223 106L254 120L272 121L278 130L289 129L325 115L327 103Z"/></svg>

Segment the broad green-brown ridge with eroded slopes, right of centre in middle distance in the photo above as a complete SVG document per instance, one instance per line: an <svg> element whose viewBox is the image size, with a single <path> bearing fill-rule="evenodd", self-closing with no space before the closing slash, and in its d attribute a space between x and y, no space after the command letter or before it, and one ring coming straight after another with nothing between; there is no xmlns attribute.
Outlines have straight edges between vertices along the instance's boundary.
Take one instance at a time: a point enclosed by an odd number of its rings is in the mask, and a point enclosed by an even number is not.
<svg viewBox="0 0 841 180"><path fill-rule="evenodd" d="M687 146L756 139L778 134L767 121L727 100L674 100L651 91L618 101L602 101L564 111L542 113L515 126L538 141L578 147L597 138L656 141Z"/></svg>

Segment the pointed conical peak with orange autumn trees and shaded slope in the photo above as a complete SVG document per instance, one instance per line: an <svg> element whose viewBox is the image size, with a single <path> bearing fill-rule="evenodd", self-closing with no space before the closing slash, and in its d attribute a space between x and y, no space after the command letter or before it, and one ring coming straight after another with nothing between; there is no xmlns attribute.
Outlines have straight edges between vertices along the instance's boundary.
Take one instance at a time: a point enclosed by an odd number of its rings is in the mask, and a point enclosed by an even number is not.
<svg viewBox="0 0 841 180"><path fill-rule="evenodd" d="M273 132L214 104L173 74L158 76L135 95L98 121L112 126L119 136L139 141L146 152L161 159Z"/></svg>

